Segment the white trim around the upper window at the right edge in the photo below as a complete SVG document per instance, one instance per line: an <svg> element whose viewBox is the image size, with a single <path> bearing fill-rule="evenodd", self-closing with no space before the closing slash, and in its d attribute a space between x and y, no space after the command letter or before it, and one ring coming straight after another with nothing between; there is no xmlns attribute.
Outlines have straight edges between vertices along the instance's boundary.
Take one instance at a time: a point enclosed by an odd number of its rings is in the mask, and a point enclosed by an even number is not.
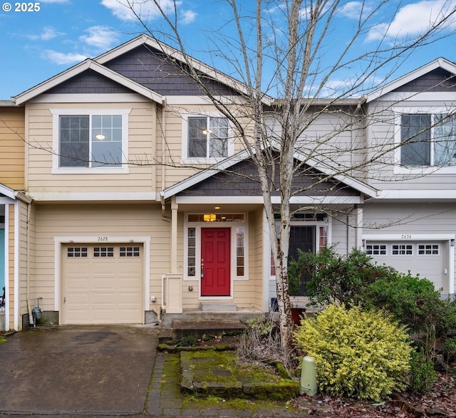
<svg viewBox="0 0 456 418"><path fill-rule="evenodd" d="M440 167L438 165L426 165L426 166L403 166L400 164L400 152L401 152L401 116L402 115L437 115L449 113L447 106L394 106L392 108L394 115L394 174L412 174L412 175L427 175L427 174L456 174L456 165ZM431 127L432 130L432 127ZM431 150L433 153L433 150Z"/></svg>

